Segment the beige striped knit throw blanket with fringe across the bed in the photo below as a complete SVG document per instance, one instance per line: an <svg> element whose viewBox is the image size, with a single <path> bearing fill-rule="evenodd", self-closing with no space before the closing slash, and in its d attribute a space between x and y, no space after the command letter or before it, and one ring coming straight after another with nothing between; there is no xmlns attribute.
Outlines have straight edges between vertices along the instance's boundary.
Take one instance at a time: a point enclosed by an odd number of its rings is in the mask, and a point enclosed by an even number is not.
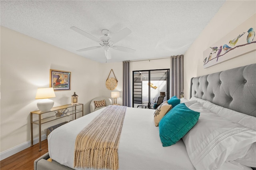
<svg viewBox="0 0 256 170"><path fill-rule="evenodd" d="M75 168L118 169L118 145L125 106L110 105L76 137Z"/></svg>

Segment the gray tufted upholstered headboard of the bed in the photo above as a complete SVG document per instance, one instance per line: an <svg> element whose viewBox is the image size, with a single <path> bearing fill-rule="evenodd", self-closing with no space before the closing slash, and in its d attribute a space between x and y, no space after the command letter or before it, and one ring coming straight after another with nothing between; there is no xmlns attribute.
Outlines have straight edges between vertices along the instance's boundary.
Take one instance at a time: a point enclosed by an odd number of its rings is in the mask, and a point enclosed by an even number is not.
<svg viewBox="0 0 256 170"><path fill-rule="evenodd" d="M192 78L191 97L256 117L256 64Z"/></svg>

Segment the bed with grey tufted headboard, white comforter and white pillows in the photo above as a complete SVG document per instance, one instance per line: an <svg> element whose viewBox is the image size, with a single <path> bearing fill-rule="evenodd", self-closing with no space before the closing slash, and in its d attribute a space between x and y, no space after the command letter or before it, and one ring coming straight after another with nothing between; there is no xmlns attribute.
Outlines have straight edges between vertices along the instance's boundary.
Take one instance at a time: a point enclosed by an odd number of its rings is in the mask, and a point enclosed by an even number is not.
<svg viewBox="0 0 256 170"><path fill-rule="evenodd" d="M126 108L118 146L118 169L256 167L256 64L192 78L190 99L180 99L179 103L168 113L185 105L200 113L199 119L180 140L165 147L162 122L171 114L166 114L156 127L156 110ZM34 169L82 169L74 168L76 136L104 109L52 131L48 136L49 152L35 160ZM52 161L47 161L48 158Z"/></svg>

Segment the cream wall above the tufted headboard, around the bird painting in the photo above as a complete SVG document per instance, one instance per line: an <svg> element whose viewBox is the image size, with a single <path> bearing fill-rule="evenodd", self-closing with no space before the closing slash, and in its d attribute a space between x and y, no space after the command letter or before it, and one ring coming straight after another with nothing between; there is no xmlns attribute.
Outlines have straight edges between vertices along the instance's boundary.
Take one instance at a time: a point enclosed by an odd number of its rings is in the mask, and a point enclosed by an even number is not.
<svg viewBox="0 0 256 170"><path fill-rule="evenodd" d="M189 98L190 79L256 63L256 51L203 68L203 51L256 13L256 1L226 1L184 54L184 95ZM254 26L255 27L255 26ZM255 39L255 38L254 38Z"/></svg>

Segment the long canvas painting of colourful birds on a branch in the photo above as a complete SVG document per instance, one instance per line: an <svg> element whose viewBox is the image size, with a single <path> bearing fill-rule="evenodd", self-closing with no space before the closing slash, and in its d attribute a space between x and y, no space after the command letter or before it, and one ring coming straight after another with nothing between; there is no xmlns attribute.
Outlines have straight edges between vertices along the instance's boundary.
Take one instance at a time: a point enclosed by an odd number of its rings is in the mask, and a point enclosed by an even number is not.
<svg viewBox="0 0 256 170"><path fill-rule="evenodd" d="M204 69L255 51L256 38L248 38L255 34L255 31L256 14L252 15L234 30L226 34L226 36L218 40L218 42L212 43L212 45L203 52L202 63Z"/></svg>

